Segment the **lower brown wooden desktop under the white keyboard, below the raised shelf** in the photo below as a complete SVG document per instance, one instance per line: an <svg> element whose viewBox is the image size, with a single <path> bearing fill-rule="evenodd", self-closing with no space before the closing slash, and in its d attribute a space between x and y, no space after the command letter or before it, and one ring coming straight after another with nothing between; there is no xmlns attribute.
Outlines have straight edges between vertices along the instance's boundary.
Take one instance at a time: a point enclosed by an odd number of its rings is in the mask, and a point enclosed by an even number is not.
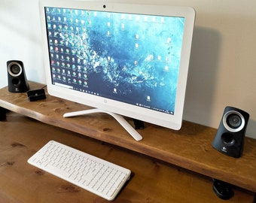
<svg viewBox="0 0 256 203"><path fill-rule="evenodd" d="M108 202L27 163L50 140L130 168L133 177L114 202L223 202L209 177L20 114L9 112L0 131L0 202ZM251 192L236 189L227 202L252 201Z"/></svg>

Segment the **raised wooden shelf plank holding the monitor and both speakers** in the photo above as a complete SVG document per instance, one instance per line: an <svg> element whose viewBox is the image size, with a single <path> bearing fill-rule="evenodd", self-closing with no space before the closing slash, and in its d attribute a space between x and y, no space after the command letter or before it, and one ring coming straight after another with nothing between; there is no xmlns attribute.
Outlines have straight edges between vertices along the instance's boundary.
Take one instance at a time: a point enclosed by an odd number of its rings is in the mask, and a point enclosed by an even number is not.
<svg viewBox="0 0 256 203"><path fill-rule="evenodd" d="M44 87L43 84L33 82L29 85L30 89ZM11 93L5 87L0 89L0 106L43 123L69 129L256 192L256 140L252 138L245 138L242 157L236 159L212 148L216 129L187 121L184 121L179 131L145 123L145 129L139 130L143 140L138 142L107 114L63 118L64 113L90 107L48 94L45 100L29 102L26 93ZM127 120L133 125L133 120Z"/></svg>

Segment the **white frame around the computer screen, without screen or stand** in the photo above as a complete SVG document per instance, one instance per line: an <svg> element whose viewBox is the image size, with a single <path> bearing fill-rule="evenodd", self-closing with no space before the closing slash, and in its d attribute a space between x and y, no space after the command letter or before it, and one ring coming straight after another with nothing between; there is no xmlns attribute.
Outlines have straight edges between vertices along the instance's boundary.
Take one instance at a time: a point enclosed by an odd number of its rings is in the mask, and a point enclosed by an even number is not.
<svg viewBox="0 0 256 203"><path fill-rule="evenodd" d="M50 73L50 56L48 51L47 27L44 13L45 7L184 17L184 38L181 47L181 63L178 75L177 95L175 99L175 114L166 114L147 108L141 108L136 105L118 102L109 98L90 95L73 89L66 89L61 86L53 85ZM44 71L47 83L47 91L50 95L54 95L59 98L65 98L72 102L78 102L92 108L99 108L104 111L110 111L125 117L132 117L137 120L143 120L145 122L153 123L158 126L164 126L169 129L181 129L185 89L187 84L187 73L190 60L190 48L194 31L195 11L193 8L166 5L161 6L90 1L41 0L39 3L39 9L41 18L42 41L44 46Z"/></svg>

